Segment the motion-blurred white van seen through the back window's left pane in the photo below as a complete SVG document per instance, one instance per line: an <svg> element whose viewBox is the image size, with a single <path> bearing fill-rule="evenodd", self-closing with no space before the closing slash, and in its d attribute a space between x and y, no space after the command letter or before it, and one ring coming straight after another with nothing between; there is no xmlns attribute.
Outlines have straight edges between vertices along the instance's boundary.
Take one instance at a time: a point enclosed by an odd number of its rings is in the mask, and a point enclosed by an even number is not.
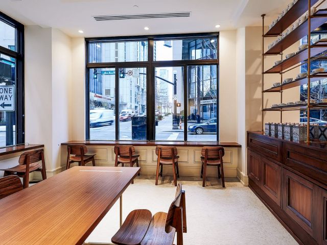
<svg viewBox="0 0 327 245"><path fill-rule="evenodd" d="M114 121L114 110L97 108L90 110L90 127L102 127L112 125Z"/></svg>

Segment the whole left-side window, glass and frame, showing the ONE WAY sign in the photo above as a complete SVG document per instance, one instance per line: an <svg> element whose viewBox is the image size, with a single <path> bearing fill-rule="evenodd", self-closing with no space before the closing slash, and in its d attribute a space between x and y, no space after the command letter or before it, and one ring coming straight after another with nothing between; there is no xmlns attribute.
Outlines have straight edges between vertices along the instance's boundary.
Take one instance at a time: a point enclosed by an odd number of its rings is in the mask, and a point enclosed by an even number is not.
<svg viewBox="0 0 327 245"><path fill-rule="evenodd" d="M0 12L0 147L24 143L24 26Z"/></svg>

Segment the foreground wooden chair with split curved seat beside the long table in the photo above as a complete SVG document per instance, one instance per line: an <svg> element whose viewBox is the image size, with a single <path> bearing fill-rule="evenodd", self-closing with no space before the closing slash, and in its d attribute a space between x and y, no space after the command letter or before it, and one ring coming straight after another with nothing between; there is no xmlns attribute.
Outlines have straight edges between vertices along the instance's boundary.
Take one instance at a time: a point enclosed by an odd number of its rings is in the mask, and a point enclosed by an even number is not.
<svg viewBox="0 0 327 245"><path fill-rule="evenodd" d="M186 231L185 191L178 184L168 213L158 212L151 218L149 210L134 210L111 241L119 245L172 245L177 233L177 245L183 245Z"/></svg>

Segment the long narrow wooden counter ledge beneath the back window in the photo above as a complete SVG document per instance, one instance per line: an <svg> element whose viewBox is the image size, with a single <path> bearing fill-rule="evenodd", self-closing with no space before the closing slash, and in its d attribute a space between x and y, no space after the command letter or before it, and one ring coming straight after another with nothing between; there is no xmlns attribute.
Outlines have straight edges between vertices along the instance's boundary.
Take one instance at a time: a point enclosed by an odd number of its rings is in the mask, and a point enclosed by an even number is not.
<svg viewBox="0 0 327 245"><path fill-rule="evenodd" d="M115 145L115 144L132 144L134 146L156 146L156 145L175 145L201 147L201 146L223 146L231 148L241 148L241 144L236 142L184 142L184 141L123 141L123 140L81 140L81 141L68 141L61 143L61 145L67 144L85 144L85 145Z"/></svg>

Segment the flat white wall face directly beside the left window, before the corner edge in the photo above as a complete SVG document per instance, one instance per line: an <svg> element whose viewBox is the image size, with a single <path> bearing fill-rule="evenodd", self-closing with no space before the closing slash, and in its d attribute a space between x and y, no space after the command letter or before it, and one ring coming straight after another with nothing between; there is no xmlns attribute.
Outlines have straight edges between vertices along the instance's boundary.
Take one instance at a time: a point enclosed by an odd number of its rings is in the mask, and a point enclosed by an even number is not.
<svg viewBox="0 0 327 245"><path fill-rule="evenodd" d="M25 27L25 142L44 144L52 169L51 29Z"/></svg>

